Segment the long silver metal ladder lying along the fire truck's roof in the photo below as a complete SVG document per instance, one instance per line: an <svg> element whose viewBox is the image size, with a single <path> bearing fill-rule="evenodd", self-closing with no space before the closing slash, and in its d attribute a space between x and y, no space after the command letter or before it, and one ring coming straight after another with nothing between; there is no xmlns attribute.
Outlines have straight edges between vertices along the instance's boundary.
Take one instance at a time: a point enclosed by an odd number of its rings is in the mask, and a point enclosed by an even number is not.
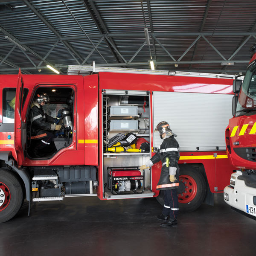
<svg viewBox="0 0 256 256"><path fill-rule="evenodd" d="M195 77L209 77L209 78L224 78L235 79L236 76L226 74L211 74L211 73L196 73L183 71L168 71L168 70L146 70L137 68L124 67L96 67L95 62L89 65L68 65L68 75L82 75L87 76L92 73L99 72L113 72L113 73L133 73L133 74L150 74L150 75L165 75L165 76L195 76Z"/></svg>

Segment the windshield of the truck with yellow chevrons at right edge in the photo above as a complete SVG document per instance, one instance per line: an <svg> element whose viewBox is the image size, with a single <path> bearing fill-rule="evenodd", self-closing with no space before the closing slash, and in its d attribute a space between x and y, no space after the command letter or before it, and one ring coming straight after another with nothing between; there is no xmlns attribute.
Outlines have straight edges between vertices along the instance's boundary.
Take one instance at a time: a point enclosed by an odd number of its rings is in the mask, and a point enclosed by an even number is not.
<svg viewBox="0 0 256 256"><path fill-rule="evenodd" d="M256 61L247 68L239 93L236 112L256 110Z"/></svg>

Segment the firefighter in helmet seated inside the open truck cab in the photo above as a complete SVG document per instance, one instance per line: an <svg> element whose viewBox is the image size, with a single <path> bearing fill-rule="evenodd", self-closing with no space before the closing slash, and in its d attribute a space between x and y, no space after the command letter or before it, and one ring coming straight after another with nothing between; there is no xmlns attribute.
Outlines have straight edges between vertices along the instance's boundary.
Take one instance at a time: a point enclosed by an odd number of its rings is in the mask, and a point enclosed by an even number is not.
<svg viewBox="0 0 256 256"><path fill-rule="evenodd" d="M59 131L61 125L56 125L55 118L43 111L43 106L49 103L47 93L38 93L32 102L28 118L29 156L49 157L57 151L53 138L54 130Z"/></svg>

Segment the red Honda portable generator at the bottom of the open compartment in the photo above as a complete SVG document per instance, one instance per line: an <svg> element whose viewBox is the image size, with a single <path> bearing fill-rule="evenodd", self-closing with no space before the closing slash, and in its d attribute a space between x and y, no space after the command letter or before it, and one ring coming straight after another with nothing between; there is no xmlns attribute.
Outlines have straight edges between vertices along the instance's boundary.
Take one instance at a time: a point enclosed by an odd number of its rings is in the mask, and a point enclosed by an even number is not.
<svg viewBox="0 0 256 256"><path fill-rule="evenodd" d="M108 167L108 189L112 194L144 192L144 170L139 167Z"/></svg>

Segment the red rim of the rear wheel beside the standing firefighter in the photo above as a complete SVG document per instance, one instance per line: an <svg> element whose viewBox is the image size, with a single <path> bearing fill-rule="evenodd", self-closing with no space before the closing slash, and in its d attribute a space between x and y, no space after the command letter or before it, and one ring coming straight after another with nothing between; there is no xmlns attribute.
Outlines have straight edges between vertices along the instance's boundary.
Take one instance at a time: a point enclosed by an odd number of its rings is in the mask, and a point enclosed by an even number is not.
<svg viewBox="0 0 256 256"><path fill-rule="evenodd" d="M198 187L195 180L189 175L180 175L180 182L184 183L185 191L178 194L179 203L187 204L195 198Z"/></svg>

